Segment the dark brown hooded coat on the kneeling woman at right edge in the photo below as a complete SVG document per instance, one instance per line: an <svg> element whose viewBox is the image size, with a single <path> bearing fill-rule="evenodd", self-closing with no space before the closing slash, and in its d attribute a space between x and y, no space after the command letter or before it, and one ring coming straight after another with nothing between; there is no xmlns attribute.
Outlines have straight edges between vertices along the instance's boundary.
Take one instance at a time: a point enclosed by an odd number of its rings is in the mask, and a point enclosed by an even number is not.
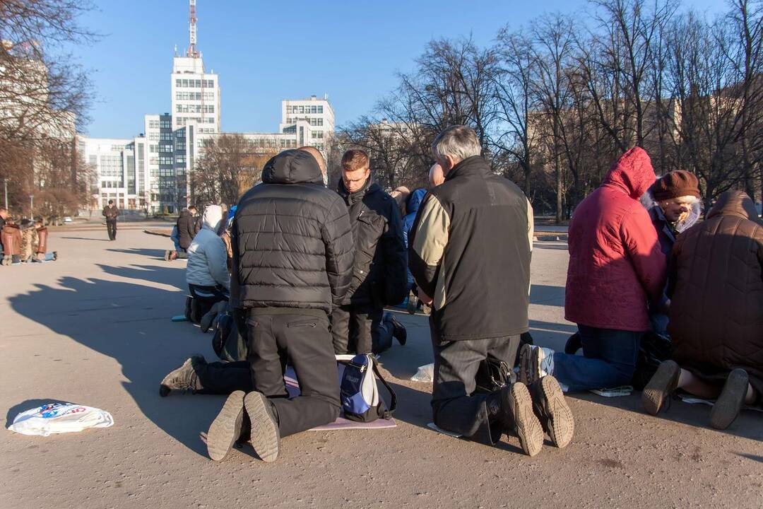
<svg viewBox="0 0 763 509"><path fill-rule="evenodd" d="M763 394L763 226L752 200L723 193L707 221L678 237L671 267L676 362L720 383L745 369Z"/></svg>

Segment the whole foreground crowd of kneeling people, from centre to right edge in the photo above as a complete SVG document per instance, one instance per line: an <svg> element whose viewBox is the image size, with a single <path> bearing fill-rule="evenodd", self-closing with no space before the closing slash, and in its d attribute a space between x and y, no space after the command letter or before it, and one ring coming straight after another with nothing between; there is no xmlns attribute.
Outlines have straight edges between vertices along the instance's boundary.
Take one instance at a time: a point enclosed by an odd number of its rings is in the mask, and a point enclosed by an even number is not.
<svg viewBox="0 0 763 509"><path fill-rule="evenodd" d="M384 192L369 156L348 150L334 192L320 152L303 147L270 159L227 217L218 205L200 218L183 212L166 259L188 258L194 298L228 301L247 350L238 362L192 356L160 384L163 396L229 395L208 431L212 459L250 440L273 461L282 437L336 420L335 355L380 352L392 337L404 344L404 327L384 308L406 298L430 308L434 424L472 440L513 434L530 456L544 433L568 445L575 422L563 392L632 384L650 334L668 338L672 355L639 366L649 414L678 388L715 399L710 424L719 429L761 403L763 225L749 196L723 193L700 221L691 172L657 179L645 150L624 153L569 225L565 318L578 333L562 353L520 342L530 201L491 171L471 128L448 127L432 151L428 191ZM477 390L486 359L516 360L517 380ZM287 360L296 398L285 388Z"/></svg>

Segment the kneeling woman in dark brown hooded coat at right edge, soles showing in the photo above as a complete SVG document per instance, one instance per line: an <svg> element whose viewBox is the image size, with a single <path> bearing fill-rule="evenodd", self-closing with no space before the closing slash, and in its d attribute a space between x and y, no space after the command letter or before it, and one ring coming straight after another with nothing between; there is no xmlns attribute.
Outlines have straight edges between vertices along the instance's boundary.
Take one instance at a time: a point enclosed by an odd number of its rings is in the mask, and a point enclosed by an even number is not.
<svg viewBox="0 0 763 509"><path fill-rule="evenodd" d="M763 224L749 196L720 195L707 221L678 237L671 272L674 360L644 388L644 408L656 415L683 388L717 398L710 425L725 429L763 395Z"/></svg>

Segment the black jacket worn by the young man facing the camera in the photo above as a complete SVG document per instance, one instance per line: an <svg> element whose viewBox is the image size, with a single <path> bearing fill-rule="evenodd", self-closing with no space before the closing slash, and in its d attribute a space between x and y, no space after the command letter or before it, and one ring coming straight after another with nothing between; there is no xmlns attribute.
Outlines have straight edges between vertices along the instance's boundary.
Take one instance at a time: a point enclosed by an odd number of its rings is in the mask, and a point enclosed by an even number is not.
<svg viewBox="0 0 763 509"><path fill-rule="evenodd" d="M407 252L398 204L369 179L350 193L337 189L349 208L355 241L353 282L343 304L399 304L407 293Z"/></svg>

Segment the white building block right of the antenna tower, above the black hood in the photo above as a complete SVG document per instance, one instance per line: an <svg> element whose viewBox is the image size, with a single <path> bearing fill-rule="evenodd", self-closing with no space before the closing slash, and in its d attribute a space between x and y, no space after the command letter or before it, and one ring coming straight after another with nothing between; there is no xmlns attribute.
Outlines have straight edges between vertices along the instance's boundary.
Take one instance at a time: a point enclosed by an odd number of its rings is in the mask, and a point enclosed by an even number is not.
<svg viewBox="0 0 763 509"><path fill-rule="evenodd" d="M304 125L298 125L304 121ZM309 145L326 155L326 147L334 134L334 113L327 96L323 99L311 95L307 99L284 99L281 101L281 124L278 131L295 134L297 146ZM309 131L309 132L308 132Z"/></svg>

